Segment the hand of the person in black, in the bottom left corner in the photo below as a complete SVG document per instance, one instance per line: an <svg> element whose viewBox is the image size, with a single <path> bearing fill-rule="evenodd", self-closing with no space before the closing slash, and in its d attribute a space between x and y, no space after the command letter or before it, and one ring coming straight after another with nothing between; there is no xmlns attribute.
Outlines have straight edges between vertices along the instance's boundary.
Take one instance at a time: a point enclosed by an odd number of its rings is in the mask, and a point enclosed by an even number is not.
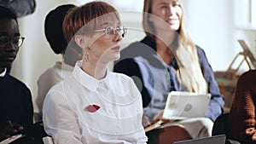
<svg viewBox="0 0 256 144"><path fill-rule="evenodd" d="M0 131L0 141L15 135L20 130L23 130L23 127L20 124L12 123L9 121L9 124L6 124L3 130Z"/></svg>

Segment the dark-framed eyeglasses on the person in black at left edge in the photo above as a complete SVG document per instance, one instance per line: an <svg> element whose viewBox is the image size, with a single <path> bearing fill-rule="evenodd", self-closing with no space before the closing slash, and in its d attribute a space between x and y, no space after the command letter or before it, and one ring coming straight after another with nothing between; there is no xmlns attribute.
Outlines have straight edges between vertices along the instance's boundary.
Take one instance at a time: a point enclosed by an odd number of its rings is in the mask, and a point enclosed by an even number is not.
<svg viewBox="0 0 256 144"><path fill-rule="evenodd" d="M7 36L0 36L0 47L5 48L9 43L13 43L15 48L20 48L24 41L25 37L16 36L14 38L10 38Z"/></svg>

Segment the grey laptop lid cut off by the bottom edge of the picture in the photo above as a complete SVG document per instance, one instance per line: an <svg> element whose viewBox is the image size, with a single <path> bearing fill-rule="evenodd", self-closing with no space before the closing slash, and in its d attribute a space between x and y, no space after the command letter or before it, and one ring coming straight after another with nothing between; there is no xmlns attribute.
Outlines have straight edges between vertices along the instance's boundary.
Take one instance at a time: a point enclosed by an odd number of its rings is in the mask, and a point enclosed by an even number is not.
<svg viewBox="0 0 256 144"><path fill-rule="evenodd" d="M224 144L226 141L225 135L214 135L199 139L192 139L186 141L175 141L172 144Z"/></svg>

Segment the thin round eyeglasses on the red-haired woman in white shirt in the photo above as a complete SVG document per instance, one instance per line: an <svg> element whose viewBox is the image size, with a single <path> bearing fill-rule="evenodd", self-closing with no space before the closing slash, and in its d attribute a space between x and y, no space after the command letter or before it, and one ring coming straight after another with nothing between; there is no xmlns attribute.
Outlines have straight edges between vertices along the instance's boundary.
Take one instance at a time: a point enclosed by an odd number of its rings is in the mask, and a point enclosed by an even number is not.
<svg viewBox="0 0 256 144"><path fill-rule="evenodd" d="M125 26L118 26L116 28L113 28L112 26L108 26L104 29L96 30L95 32L105 32L105 36L107 38L115 36L116 32L119 32L119 34L122 37L125 37L125 34L127 33L127 28Z"/></svg>

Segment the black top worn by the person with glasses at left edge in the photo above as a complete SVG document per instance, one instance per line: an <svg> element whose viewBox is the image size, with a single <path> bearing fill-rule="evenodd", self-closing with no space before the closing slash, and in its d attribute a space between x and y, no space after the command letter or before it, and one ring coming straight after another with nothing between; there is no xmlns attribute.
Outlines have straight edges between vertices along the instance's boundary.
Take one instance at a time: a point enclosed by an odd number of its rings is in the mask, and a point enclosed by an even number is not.
<svg viewBox="0 0 256 144"><path fill-rule="evenodd" d="M0 130L9 122L27 127L33 123L32 95L20 80L0 77Z"/></svg>

